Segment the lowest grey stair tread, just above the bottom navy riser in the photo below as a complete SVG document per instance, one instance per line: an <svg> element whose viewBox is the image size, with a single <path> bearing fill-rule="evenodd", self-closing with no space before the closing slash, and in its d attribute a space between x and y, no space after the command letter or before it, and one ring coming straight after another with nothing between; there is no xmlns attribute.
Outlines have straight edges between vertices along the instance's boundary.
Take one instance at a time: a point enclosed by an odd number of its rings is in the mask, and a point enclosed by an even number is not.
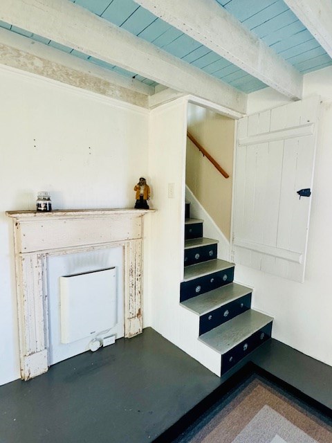
<svg viewBox="0 0 332 443"><path fill-rule="evenodd" d="M223 325L205 332L199 340L219 354L225 354L271 321L273 321L272 317L249 309Z"/></svg>

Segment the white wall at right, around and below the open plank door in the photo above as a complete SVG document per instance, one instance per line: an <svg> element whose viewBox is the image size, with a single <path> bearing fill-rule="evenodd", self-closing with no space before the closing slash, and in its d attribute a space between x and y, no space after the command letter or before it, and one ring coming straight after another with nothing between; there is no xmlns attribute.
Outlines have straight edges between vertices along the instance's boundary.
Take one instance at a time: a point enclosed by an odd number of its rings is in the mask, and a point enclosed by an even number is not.
<svg viewBox="0 0 332 443"><path fill-rule="evenodd" d="M332 365L332 68L304 76L304 96L313 93L321 96L322 107L305 281L292 282L239 265L235 277L254 288L253 307L274 316L274 338ZM271 104L281 105L280 97L272 95ZM267 109L270 97L269 89L250 94L248 113Z"/></svg>

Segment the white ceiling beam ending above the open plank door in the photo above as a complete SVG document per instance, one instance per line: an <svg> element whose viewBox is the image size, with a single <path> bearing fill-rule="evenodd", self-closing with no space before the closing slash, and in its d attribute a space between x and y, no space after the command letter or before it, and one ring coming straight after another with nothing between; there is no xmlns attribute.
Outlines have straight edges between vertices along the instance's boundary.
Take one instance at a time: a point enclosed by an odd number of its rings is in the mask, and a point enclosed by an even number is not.
<svg viewBox="0 0 332 443"><path fill-rule="evenodd" d="M134 1L276 91L302 98L302 75L216 0Z"/></svg>

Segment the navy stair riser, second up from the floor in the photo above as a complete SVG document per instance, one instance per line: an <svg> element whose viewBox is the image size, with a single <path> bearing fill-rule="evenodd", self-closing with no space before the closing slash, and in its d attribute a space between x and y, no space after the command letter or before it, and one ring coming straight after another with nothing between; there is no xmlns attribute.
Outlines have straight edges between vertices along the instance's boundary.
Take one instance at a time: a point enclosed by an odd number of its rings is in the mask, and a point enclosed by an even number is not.
<svg viewBox="0 0 332 443"><path fill-rule="evenodd" d="M210 311L208 314L204 314L199 318L199 335L209 332L214 327L226 323L226 321L242 314L250 309L251 305L251 293L246 296L237 298L226 305L223 305L214 311Z"/></svg>

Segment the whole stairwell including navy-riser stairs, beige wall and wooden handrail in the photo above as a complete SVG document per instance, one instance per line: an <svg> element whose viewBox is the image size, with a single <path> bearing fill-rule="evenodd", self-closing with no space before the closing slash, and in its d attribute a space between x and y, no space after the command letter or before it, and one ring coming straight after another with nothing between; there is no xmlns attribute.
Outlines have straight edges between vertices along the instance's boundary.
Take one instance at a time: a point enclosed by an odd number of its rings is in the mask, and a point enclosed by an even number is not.
<svg viewBox="0 0 332 443"><path fill-rule="evenodd" d="M252 289L234 282L230 261L234 120L190 104L187 127L185 253L179 297L196 322L198 341L219 357L222 375L270 338L273 318L251 309ZM222 168L211 160L211 152ZM225 169L226 177L220 174Z"/></svg>

